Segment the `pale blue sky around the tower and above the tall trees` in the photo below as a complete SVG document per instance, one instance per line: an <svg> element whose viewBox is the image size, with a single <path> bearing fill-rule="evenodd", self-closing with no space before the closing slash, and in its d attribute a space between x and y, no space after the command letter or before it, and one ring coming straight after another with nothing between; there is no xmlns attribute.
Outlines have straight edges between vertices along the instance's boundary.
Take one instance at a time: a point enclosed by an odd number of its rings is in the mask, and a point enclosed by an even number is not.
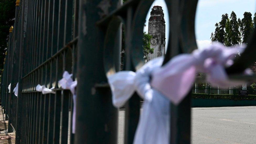
<svg viewBox="0 0 256 144"><path fill-rule="evenodd" d="M156 0L155 5L163 7L164 19L166 21L166 42L168 42L169 16L166 4L164 0ZM154 3L151 8L153 6ZM254 15L256 0L199 0L196 10L195 34L200 49L210 44L211 33L215 30L215 23L220 22L221 15L227 13L230 16L232 10L236 13L237 18L240 19L243 18L244 12L251 12ZM146 25L148 25L150 11L146 17ZM147 26L144 28L144 31L147 31Z"/></svg>

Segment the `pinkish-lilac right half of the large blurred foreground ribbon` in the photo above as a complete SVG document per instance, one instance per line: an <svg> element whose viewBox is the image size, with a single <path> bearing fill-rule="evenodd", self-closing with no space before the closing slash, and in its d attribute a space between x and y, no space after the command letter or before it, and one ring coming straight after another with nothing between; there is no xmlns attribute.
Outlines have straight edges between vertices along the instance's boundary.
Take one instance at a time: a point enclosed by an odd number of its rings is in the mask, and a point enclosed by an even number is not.
<svg viewBox="0 0 256 144"><path fill-rule="evenodd" d="M243 51L244 47L225 47L214 42L204 50L175 56L163 67L152 72L151 86L174 104L179 104L189 93L198 72L205 73L206 81L212 86L232 87L242 84L242 81L228 79L225 67L231 66L235 55Z"/></svg>

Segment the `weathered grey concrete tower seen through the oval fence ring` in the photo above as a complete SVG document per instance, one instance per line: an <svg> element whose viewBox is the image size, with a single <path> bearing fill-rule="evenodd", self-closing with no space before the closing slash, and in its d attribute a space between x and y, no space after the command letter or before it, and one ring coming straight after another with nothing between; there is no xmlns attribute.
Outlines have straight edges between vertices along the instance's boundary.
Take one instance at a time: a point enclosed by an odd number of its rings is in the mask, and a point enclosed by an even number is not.
<svg viewBox="0 0 256 144"><path fill-rule="evenodd" d="M165 21L161 6L154 6L148 20L148 34L152 35L151 48L154 53L148 55L147 61L165 54Z"/></svg>

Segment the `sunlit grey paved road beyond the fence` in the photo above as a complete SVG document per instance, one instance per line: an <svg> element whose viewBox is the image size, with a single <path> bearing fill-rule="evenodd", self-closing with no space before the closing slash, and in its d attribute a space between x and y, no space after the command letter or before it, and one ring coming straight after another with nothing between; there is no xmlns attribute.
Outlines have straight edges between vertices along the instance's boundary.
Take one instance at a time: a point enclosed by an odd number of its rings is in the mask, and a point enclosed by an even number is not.
<svg viewBox="0 0 256 144"><path fill-rule="evenodd" d="M120 144L124 114L119 112ZM192 108L192 143L256 143L256 106Z"/></svg>

